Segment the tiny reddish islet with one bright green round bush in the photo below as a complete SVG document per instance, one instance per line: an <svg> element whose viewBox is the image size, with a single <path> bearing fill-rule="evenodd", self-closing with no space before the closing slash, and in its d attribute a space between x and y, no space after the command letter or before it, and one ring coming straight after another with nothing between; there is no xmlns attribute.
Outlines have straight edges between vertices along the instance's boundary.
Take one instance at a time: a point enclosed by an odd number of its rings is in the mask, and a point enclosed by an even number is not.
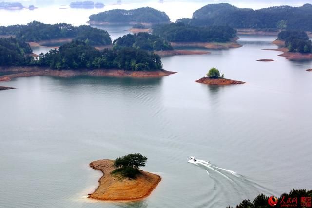
<svg viewBox="0 0 312 208"><path fill-rule="evenodd" d="M245 82L225 79L224 75L220 76L220 71L216 68L211 68L206 77L196 80L196 82L207 85L232 85L232 84L245 84Z"/></svg>

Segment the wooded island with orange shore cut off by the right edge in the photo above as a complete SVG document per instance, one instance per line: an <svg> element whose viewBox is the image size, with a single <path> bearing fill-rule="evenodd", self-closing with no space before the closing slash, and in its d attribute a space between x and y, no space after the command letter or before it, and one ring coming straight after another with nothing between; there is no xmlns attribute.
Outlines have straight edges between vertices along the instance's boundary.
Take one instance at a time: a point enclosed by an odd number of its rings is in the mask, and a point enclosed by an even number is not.
<svg viewBox="0 0 312 208"><path fill-rule="evenodd" d="M312 42L306 32L298 30L284 30L278 34L274 44L279 46L278 49L265 49L281 51L279 55L289 60L311 60L312 59Z"/></svg>

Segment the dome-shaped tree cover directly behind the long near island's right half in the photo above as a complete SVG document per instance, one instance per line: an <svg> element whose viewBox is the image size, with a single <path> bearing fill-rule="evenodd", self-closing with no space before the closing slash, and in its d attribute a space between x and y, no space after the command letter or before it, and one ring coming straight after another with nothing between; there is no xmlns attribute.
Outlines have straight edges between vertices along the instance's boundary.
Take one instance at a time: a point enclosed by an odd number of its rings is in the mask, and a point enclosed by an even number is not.
<svg viewBox="0 0 312 208"><path fill-rule="evenodd" d="M122 47L134 47L147 51L173 50L170 43L168 43L166 40L149 33L124 35L123 37L119 37L114 40L113 47L115 49L120 49Z"/></svg>

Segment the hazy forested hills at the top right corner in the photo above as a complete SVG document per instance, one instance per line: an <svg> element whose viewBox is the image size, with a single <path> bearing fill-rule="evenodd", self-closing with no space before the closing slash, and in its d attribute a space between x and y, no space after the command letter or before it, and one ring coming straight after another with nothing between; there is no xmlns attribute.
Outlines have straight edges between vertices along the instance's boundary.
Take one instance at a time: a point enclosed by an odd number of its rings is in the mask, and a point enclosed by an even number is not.
<svg viewBox="0 0 312 208"><path fill-rule="evenodd" d="M178 22L196 26L229 25L234 28L312 31L312 4L259 10L241 9L228 3L208 4L195 11L192 19L179 19Z"/></svg>

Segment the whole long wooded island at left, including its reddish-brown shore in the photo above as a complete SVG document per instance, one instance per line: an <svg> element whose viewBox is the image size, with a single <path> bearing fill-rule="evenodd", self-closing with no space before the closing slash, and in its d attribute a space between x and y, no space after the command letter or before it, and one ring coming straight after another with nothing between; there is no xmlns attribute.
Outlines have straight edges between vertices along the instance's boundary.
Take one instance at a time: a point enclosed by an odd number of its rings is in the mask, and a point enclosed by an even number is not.
<svg viewBox="0 0 312 208"><path fill-rule="evenodd" d="M160 57L133 47L104 49L75 40L59 49L32 56L28 43L0 38L0 81L25 76L129 76L161 77L174 74L162 69ZM7 73L7 74L6 74Z"/></svg>

